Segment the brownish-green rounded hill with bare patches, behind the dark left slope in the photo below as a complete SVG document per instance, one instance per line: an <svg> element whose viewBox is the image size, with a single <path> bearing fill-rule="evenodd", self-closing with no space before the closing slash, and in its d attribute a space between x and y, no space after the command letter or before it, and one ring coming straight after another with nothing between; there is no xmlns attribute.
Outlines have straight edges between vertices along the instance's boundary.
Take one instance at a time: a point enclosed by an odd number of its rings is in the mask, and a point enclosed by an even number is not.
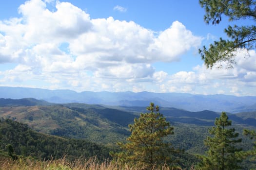
<svg viewBox="0 0 256 170"><path fill-rule="evenodd" d="M129 134L127 126L104 118L91 109L63 105L0 107L0 116L28 124L32 129L57 136L113 144Z"/></svg>

